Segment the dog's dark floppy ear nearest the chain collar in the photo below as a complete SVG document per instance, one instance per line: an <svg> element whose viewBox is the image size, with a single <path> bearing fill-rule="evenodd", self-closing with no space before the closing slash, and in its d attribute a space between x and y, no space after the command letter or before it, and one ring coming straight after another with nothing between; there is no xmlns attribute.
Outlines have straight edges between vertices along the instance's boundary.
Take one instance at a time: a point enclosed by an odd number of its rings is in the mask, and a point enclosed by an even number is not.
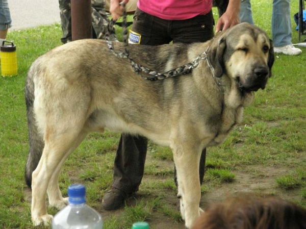
<svg viewBox="0 0 306 229"><path fill-rule="evenodd" d="M212 47L212 52L210 52L209 60L211 65L215 70L215 77L222 77L224 72L224 62L223 55L226 48L225 38L219 39L218 44Z"/></svg>

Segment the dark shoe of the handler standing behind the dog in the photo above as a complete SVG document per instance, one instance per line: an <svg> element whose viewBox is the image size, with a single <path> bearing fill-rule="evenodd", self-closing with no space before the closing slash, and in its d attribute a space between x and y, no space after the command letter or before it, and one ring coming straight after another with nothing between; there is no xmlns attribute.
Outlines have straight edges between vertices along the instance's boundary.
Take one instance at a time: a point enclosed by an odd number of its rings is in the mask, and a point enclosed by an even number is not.
<svg viewBox="0 0 306 229"><path fill-rule="evenodd" d="M125 193L124 191L111 187L102 200L102 206L105 210L116 210L124 205L124 201L131 197L133 193Z"/></svg>

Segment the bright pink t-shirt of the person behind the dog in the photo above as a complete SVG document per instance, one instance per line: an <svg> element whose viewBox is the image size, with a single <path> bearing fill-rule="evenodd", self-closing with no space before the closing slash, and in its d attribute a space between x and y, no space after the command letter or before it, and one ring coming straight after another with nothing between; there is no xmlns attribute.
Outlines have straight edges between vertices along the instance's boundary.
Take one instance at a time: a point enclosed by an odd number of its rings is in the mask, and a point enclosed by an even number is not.
<svg viewBox="0 0 306 229"><path fill-rule="evenodd" d="M213 0L139 0L137 7L162 19L185 20L207 14L213 7Z"/></svg>

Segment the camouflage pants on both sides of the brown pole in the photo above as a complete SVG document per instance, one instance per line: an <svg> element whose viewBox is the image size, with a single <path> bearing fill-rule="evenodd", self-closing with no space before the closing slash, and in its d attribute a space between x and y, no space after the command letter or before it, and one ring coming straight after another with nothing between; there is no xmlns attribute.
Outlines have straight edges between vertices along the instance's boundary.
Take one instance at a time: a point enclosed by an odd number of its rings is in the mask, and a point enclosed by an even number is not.
<svg viewBox="0 0 306 229"><path fill-rule="evenodd" d="M71 2L70 0L59 0L60 16L63 36L61 41L67 43L71 38ZM91 18L93 38L104 39L105 32L109 23L109 18L105 11L105 2L103 0L91 0ZM111 33L110 39L117 40L115 32Z"/></svg>

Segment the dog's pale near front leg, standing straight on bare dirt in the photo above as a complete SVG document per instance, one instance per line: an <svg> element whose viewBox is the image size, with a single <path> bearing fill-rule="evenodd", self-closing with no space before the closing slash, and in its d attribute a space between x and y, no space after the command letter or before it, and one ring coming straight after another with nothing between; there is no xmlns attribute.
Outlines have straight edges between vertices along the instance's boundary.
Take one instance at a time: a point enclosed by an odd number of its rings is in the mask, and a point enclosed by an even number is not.
<svg viewBox="0 0 306 229"><path fill-rule="evenodd" d="M199 161L201 150L194 142L171 144L179 184L181 215L186 227L190 228L203 212L199 208L201 190L199 182Z"/></svg>

